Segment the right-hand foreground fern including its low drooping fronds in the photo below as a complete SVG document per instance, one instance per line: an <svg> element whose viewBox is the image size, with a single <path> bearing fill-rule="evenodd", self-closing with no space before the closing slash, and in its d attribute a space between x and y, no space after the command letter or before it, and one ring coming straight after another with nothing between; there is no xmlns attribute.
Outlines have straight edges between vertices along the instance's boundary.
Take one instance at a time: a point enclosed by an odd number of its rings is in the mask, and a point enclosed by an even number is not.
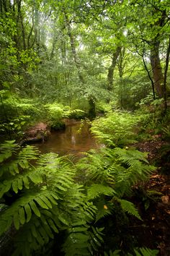
<svg viewBox="0 0 170 256"><path fill-rule="evenodd" d="M79 171L85 171L87 198L96 202L97 220L110 213L115 200L126 213L140 219L133 203L123 197L127 197L133 185L146 181L155 170L149 166L146 156L135 149L102 148L98 153L91 150L77 163Z"/></svg>

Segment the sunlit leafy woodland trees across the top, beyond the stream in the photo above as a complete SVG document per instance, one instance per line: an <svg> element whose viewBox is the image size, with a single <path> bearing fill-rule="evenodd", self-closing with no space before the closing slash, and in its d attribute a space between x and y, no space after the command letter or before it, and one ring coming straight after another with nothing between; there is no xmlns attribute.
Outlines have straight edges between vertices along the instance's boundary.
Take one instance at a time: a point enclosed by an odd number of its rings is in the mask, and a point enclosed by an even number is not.
<svg viewBox="0 0 170 256"><path fill-rule="evenodd" d="M122 102L125 80L148 75L153 98L166 103L169 11L167 0L1 1L1 88L90 106Z"/></svg>

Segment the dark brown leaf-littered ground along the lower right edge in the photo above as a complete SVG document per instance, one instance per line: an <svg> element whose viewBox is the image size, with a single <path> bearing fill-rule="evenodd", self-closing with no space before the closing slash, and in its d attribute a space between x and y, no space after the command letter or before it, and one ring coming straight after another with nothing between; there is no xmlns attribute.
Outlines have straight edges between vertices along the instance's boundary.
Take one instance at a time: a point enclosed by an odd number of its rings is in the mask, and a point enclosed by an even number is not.
<svg viewBox="0 0 170 256"><path fill-rule="evenodd" d="M170 163L168 159L161 160L160 148L168 145L162 140L138 142L135 148L142 152L148 152L148 161L157 163L156 171L151 175L145 184L145 191L158 192L157 197L148 196L148 209L142 209L143 227L135 229L138 239L146 247L159 249L161 256L170 255ZM162 167L166 166L166 174L162 172ZM169 173L168 173L169 172ZM156 193L155 193L156 195ZM147 198L143 198L147 200ZM155 247L156 246L156 247Z"/></svg>

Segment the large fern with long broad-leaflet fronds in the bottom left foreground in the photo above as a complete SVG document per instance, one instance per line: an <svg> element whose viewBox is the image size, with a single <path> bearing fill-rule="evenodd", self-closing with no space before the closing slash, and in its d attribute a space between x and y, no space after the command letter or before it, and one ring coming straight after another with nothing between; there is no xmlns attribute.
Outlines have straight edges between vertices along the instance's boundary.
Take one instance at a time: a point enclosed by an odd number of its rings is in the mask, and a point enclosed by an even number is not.
<svg viewBox="0 0 170 256"><path fill-rule="evenodd" d="M0 236L12 231L13 255L27 256L41 254L45 244L64 232L71 255L90 255L102 242L102 230L91 226L97 208L73 181L75 166L53 153L37 154L31 146L1 145Z"/></svg>

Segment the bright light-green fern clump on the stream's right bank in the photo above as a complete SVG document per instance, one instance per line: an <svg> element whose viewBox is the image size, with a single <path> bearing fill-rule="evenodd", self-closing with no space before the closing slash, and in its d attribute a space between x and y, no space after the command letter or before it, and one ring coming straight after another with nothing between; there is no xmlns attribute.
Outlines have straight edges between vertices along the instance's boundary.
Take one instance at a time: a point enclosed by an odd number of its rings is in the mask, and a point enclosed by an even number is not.
<svg viewBox="0 0 170 256"><path fill-rule="evenodd" d="M138 119L126 112L110 112L92 122L91 132L100 142L109 146L121 146L135 142L134 127Z"/></svg>

